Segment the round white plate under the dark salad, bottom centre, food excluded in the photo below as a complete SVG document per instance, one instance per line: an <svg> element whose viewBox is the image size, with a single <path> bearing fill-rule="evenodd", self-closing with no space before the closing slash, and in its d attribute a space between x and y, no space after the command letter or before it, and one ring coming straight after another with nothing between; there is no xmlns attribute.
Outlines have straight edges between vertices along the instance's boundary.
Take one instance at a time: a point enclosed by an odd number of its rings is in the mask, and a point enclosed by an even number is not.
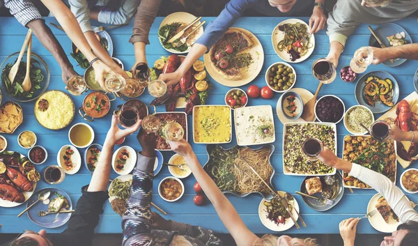
<svg viewBox="0 0 418 246"><path fill-rule="evenodd" d="M284 194L286 194L286 192L281 192L281 191L278 191L278 192L281 195L281 197L283 197ZM291 229L291 227L295 223L292 221L290 217L285 220L284 224L280 224L279 226L267 218L268 213L265 211L265 205L263 204L264 201L266 200L262 199L260 202L260 205L258 205L258 217L260 217L261 223L263 223L265 227L267 227L268 229L272 231L286 231L288 229ZM297 220L299 219L299 216L297 216L297 213L295 212L295 210L299 212L299 204L297 203L296 199L294 199L294 201L295 202L293 203L292 215L295 218L295 220Z"/></svg>

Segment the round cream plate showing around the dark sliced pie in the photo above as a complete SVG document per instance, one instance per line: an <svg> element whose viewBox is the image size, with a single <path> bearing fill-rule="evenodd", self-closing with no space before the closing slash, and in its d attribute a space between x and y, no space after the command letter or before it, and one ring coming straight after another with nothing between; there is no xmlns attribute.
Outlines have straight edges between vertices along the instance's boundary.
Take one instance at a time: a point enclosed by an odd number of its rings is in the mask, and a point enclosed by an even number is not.
<svg viewBox="0 0 418 246"><path fill-rule="evenodd" d="M249 36L249 38L251 38L251 40L254 43L252 47L249 47L248 49L245 49L242 52L240 52L240 54L245 54L245 53L251 54L251 57L254 61L253 63L251 63L248 69L240 70L242 79L241 80L225 79L222 76L222 74L220 74L215 69L213 69L212 65L210 65L210 63L212 62L210 61L210 52L206 53L203 56L203 61L205 62L205 67L210 77L212 77L212 79L215 79L216 82L224 86L239 87L239 86L243 86L253 81L261 72L261 68L263 68L263 63L264 63L264 50L260 41L258 40L258 38L256 38L256 36L253 33L245 29L238 28L238 27L232 27L230 29L237 29L238 31L242 31L243 33L246 33L247 36Z"/></svg>

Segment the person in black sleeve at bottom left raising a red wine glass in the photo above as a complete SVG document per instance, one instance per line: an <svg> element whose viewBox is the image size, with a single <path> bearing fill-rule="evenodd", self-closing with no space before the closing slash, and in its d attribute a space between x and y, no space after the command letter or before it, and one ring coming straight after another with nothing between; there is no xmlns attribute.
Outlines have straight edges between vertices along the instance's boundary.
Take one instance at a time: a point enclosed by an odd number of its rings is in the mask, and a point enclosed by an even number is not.
<svg viewBox="0 0 418 246"><path fill-rule="evenodd" d="M119 139L137 131L140 125L141 121L130 128L121 130L118 128L116 116L112 117L111 127L104 140L102 153L100 153L98 164L93 172L93 176L91 176L90 185L82 187L82 197L77 201L77 207L75 212L72 213L68 221L68 228L65 231L59 234L47 235L47 232L43 229L39 232L26 230L22 235L6 245L91 245L95 226L99 223L99 215L103 213L103 204L109 199L107 186L109 185L110 163L114 153L114 146Z"/></svg>

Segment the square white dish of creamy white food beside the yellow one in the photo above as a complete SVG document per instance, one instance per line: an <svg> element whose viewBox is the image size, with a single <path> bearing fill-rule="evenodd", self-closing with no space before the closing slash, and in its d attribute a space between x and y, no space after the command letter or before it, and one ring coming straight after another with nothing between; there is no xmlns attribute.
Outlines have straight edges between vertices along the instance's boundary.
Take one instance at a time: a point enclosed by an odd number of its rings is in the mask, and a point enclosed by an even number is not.
<svg viewBox="0 0 418 246"><path fill-rule="evenodd" d="M239 146L270 144L276 140L273 109L270 105L235 109L234 122Z"/></svg>

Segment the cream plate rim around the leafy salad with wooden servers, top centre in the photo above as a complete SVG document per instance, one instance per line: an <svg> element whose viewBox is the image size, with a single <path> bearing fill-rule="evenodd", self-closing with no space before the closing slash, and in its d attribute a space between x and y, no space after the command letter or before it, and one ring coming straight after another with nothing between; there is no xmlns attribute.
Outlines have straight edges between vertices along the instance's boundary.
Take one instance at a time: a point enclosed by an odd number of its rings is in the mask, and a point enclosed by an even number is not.
<svg viewBox="0 0 418 246"><path fill-rule="evenodd" d="M172 13L171 15L168 15L167 17L165 17L164 20L162 20L162 22L160 24L160 27L158 28L158 31L160 31L161 27L164 26L165 24L171 24L173 22L184 22L188 25L188 24L192 23L194 20L196 20L196 16L194 16L190 13L185 13L185 12ZM199 24L201 24L200 21L196 22L193 26L191 26L189 28L191 30L193 30ZM203 35L203 26L199 27L199 31L197 31L196 35L194 36L194 38L192 40L192 43L194 43L202 35ZM160 38L158 38L158 40L160 40ZM189 49L185 50L184 52L179 52L176 49L166 49L162 45L161 40L160 40L160 44L165 50L167 50L168 52L171 52L173 54L185 54L185 53L188 53L190 51L190 49L192 49L192 46L189 46Z"/></svg>

